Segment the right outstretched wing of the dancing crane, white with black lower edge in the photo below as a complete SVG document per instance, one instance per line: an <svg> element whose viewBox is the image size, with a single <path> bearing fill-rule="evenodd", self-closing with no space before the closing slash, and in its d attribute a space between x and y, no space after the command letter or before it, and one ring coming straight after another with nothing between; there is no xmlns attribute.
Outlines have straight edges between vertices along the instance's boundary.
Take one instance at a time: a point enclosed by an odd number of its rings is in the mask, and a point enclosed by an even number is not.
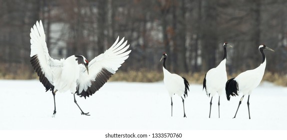
<svg viewBox="0 0 287 140"><path fill-rule="evenodd" d="M120 41L118 37L108 50L92 59L89 62L89 74L87 71L80 72L76 91L78 95L86 98L95 93L129 57L131 50L126 50L130 45L126 45L127 40L123 41L124 37Z"/></svg>

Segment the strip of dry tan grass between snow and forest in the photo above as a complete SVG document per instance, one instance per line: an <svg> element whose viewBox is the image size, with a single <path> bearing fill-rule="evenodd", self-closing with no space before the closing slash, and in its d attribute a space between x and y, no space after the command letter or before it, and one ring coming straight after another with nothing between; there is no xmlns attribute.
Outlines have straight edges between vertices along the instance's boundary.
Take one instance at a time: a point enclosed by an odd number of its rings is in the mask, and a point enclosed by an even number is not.
<svg viewBox="0 0 287 140"><path fill-rule="evenodd" d="M228 75L228 78L235 77L239 73L233 73ZM185 77L189 83L202 84L205 72L188 72L179 73L179 75ZM35 79L38 78L36 72L31 70L31 67L15 66L13 70L7 70L0 68L0 79ZM163 80L163 72L155 70L130 70L130 71L117 71L111 79L111 81L136 81L136 82L155 82ZM272 73L265 71L263 80L273 82L277 85L287 86L287 75Z"/></svg>

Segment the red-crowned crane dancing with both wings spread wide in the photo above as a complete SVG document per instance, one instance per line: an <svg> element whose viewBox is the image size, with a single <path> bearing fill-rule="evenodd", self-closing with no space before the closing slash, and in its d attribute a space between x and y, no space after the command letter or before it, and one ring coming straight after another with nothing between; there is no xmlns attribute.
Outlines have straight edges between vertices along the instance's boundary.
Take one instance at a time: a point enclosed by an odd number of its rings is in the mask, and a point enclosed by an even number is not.
<svg viewBox="0 0 287 140"><path fill-rule="evenodd" d="M45 41L45 32L42 21L36 22L31 28L31 64L39 76L39 80L46 87L46 91L51 90L54 96L56 114L55 93L70 91L74 95L74 102L78 105L75 94L84 96L94 94L107 80L118 70L121 64L129 57L131 50L127 41L119 37L114 44L104 53L98 55L90 62L83 55L72 55L66 59L53 59L49 53Z"/></svg>

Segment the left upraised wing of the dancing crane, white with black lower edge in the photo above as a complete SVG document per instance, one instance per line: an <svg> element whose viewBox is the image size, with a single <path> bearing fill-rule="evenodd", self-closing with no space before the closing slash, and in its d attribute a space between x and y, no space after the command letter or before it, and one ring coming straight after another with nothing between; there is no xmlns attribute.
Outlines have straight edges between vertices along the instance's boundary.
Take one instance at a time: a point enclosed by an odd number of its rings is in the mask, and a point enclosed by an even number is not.
<svg viewBox="0 0 287 140"><path fill-rule="evenodd" d="M40 81L46 87L46 91L54 90L52 66L61 65L59 60L51 58L48 53L46 37L42 21L36 22L30 33L31 54L30 62L37 72Z"/></svg>

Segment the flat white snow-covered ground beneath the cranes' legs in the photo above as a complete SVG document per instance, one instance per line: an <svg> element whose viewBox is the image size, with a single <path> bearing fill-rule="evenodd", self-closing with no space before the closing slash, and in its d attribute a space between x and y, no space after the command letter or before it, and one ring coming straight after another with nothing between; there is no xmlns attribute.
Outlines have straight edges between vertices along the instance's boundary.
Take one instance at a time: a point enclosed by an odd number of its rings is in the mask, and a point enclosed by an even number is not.
<svg viewBox="0 0 287 140"><path fill-rule="evenodd" d="M163 81L153 83L108 81L95 94L85 99L76 96L84 112L81 115L73 94L56 93L57 114L52 117L54 101L51 91L45 92L35 80L0 80L0 129L2 130L270 130L287 129L287 87L262 82L250 95L248 119L247 95L235 114L242 94L227 101L222 95L220 118L218 96L213 97L211 118L210 98L200 84L190 84L185 99L173 96L171 117L170 97Z"/></svg>

